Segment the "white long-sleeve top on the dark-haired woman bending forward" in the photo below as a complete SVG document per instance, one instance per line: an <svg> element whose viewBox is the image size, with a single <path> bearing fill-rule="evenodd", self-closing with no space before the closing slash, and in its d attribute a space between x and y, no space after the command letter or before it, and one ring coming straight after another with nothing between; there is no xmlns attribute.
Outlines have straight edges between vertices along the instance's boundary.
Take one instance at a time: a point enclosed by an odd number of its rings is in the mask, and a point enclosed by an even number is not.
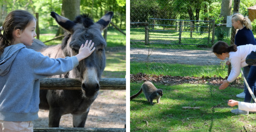
<svg viewBox="0 0 256 132"><path fill-rule="evenodd" d="M240 75L241 67L246 67L245 59L252 51L256 51L256 45L247 44L237 47L236 52L229 52L228 61L231 63L232 69L228 76L228 82L233 82Z"/></svg>

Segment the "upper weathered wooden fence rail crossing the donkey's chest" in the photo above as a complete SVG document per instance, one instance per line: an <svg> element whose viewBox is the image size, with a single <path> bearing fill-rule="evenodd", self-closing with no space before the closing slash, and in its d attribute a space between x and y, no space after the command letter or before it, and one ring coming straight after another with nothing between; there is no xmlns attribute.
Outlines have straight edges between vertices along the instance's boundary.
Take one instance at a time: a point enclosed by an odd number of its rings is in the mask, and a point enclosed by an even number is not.
<svg viewBox="0 0 256 132"><path fill-rule="evenodd" d="M76 78L44 78L40 80L40 89L80 90L81 81ZM126 78L102 78L100 89L126 90Z"/></svg>

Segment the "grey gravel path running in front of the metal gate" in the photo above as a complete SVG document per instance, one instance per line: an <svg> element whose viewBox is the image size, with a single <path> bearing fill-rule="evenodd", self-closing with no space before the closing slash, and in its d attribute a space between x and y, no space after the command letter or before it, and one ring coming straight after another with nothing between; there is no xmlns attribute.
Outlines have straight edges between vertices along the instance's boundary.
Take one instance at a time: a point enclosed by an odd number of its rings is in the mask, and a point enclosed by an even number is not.
<svg viewBox="0 0 256 132"><path fill-rule="evenodd" d="M150 55L150 56L148 56ZM221 62L211 50L130 49L130 61L179 63L191 65L219 65ZM227 61L227 60L226 60Z"/></svg>

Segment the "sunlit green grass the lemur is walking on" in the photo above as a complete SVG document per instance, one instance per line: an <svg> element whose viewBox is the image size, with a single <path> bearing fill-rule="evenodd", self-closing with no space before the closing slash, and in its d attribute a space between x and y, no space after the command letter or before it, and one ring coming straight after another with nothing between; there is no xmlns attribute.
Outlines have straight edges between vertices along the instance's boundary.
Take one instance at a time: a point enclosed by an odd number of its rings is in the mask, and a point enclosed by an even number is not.
<svg viewBox="0 0 256 132"><path fill-rule="evenodd" d="M137 93L142 83L130 83L130 95ZM227 105L229 99L243 101L235 95L242 89L207 84L165 86L160 104L150 105L141 94L130 101L130 131L136 132L240 132L256 130L256 114L234 115L236 109ZM156 103L154 100L153 103ZM182 109L184 106L200 109ZM146 123L148 121L148 125Z"/></svg>

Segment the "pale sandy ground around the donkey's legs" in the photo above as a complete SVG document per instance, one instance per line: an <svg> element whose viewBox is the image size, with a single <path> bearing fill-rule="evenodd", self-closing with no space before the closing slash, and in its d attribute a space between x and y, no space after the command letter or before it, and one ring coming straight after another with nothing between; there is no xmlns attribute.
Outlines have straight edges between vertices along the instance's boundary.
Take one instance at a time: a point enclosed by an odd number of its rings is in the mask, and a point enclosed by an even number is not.
<svg viewBox="0 0 256 132"><path fill-rule="evenodd" d="M114 52L125 48L110 49ZM113 54L113 52L107 52ZM106 76L105 78L111 78ZM39 118L35 121L35 128L48 128L49 110L39 110ZM124 128L126 124L126 90L100 90L100 94L90 107L85 128ZM60 127L72 128L72 115L61 117Z"/></svg>

